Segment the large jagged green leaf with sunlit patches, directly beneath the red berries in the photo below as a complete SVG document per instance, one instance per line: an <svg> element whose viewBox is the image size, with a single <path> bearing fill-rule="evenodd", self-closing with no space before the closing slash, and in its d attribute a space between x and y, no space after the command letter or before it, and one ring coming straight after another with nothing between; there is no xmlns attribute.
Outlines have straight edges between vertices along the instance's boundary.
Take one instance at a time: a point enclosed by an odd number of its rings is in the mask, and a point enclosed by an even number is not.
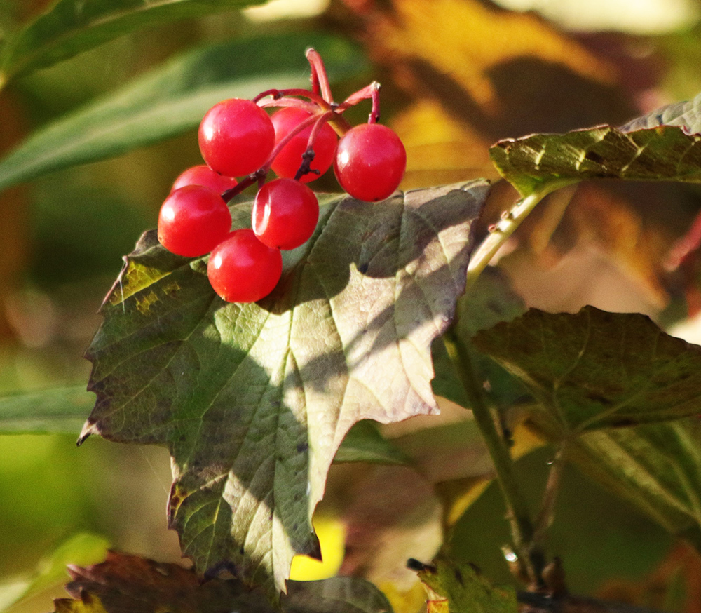
<svg viewBox="0 0 701 613"><path fill-rule="evenodd" d="M322 198L258 304L222 302L203 259L142 236L88 351L83 438L170 446L170 525L198 568L233 565L275 595L292 555L318 555L311 514L348 429L436 412L430 344L465 288L488 189ZM232 213L250 223L250 203Z"/></svg>

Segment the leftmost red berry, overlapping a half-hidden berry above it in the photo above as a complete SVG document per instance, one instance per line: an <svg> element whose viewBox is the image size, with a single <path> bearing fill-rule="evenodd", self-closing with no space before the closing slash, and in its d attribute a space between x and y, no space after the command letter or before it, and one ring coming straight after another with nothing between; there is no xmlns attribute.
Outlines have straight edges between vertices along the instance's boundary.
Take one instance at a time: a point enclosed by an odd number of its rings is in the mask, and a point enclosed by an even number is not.
<svg viewBox="0 0 701 613"><path fill-rule="evenodd" d="M158 214L158 241L176 255L205 255L230 229L229 207L222 196L202 185L172 191Z"/></svg>

